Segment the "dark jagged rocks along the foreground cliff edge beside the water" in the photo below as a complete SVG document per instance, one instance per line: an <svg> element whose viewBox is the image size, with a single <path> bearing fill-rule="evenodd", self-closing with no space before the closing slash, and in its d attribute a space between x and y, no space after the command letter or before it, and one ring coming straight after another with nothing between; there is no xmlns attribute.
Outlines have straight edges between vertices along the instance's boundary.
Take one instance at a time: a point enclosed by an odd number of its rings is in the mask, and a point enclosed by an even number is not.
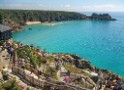
<svg viewBox="0 0 124 90"><path fill-rule="evenodd" d="M77 68L80 68L80 69L89 69L91 71L95 71L96 73L98 74L104 74L104 75L110 75L110 76L118 76L116 73L113 73L107 69L100 69L100 68L97 68L95 66L93 66L89 60L84 60L82 58L80 58L79 56L77 55L72 55L70 54L69 55L71 57L71 59L66 59L67 62L75 65ZM72 59L73 58L73 59Z"/></svg>

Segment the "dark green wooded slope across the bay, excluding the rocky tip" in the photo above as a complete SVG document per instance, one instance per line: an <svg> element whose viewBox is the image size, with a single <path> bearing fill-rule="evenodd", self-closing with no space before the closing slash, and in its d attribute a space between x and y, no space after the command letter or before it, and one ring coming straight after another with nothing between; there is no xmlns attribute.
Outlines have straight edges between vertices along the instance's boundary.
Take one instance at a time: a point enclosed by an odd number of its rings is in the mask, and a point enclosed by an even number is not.
<svg viewBox="0 0 124 90"><path fill-rule="evenodd" d="M81 20L87 16L74 12L63 11L38 11L38 10L0 10L0 23L9 25L12 28L19 28L25 25L26 21L63 21Z"/></svg>

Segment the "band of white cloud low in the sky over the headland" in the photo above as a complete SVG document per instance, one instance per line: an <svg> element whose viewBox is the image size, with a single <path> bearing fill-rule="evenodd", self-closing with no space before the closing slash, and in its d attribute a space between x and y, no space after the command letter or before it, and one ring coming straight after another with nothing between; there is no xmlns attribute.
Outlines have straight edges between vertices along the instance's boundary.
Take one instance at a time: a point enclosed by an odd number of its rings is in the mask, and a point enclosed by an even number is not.
<svg viewBox="0 0 124 90"><path fill-rule="evenodd" d="M0 4L0 9L27 9L27 10L57 10L57 11L79 11L79 12L124 12L124 6L112 4L106 5L88 5L88 6L71 6L70 4L62 4L60 6L47 6L39 3L16 3L16 4Z"/></svg>

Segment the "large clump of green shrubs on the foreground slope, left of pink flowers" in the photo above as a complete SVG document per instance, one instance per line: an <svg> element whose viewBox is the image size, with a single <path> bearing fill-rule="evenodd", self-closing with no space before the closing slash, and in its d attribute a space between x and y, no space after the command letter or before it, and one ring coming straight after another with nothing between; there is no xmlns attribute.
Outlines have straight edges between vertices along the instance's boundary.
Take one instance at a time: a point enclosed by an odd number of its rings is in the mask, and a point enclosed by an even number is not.
<svg viewBox="0 0 124 90"><path fill-rule="evenodd" d="M36 49L31 49L28 46L17 49L18 57L25 59L25 62L26 62L25 64L29 62L34 68L36 68L37 66L40 67L41 64L46 63L46 58L43 56L37 55L36 52L37 52Z"/></svg>

